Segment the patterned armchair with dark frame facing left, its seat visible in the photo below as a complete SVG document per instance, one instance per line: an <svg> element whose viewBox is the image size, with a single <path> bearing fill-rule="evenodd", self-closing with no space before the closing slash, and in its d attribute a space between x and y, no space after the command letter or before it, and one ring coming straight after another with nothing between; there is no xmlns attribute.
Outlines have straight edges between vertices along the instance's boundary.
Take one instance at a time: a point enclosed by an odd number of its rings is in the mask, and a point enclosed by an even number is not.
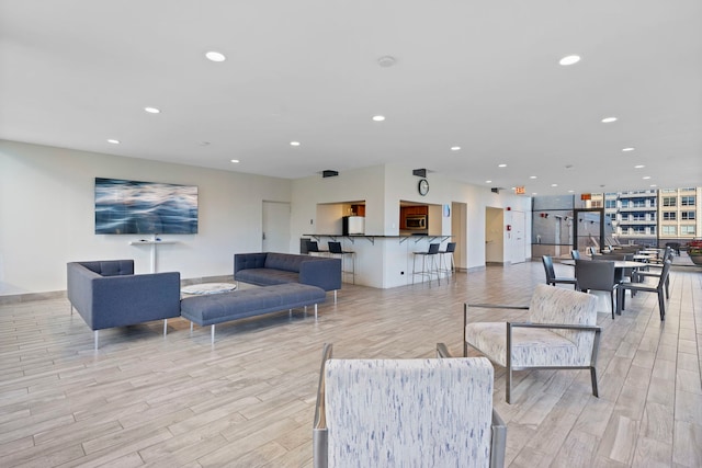
<svg viewBox="0 0 702 468"><path fill-rule="evenodd" d="M597 327L598 299L587 293L536 285L529 306L465 304L463 308L463 355L473 346L505 367L506 401L511 403L512 372L523 369L589 369L592 395L598 397ZM519 321L471 322L475 308L528 311Z"/></svg>

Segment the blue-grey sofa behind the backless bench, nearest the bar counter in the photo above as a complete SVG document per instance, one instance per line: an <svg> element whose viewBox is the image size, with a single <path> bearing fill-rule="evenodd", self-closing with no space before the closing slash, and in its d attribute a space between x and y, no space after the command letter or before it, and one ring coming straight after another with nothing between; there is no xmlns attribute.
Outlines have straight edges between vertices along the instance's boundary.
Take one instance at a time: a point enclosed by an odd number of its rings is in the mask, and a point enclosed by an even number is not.
<svg viewBox="0 0 702 468"><path fill-rule="evenodd" d="M294 253L236 253L234 279L257 286L302 283L324 290L341 289L341 260Z"/></svg>

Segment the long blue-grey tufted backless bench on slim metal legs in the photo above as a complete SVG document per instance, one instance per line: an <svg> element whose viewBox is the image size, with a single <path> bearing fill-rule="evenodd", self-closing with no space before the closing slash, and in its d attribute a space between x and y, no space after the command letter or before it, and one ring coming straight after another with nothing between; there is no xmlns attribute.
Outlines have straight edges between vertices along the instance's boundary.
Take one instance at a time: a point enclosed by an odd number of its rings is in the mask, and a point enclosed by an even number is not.
<svg viewBox="0 0 702 468"><path fill-rule="evenodd" d="M185 297L180 301L181 317L200 327L212 327L212 342L215 341L215 324L247 317L261 316L297 307L315 306L324 303L327 293L317 286L299 283L285 283L273 286L257 287L233 293Z"/></svg>

